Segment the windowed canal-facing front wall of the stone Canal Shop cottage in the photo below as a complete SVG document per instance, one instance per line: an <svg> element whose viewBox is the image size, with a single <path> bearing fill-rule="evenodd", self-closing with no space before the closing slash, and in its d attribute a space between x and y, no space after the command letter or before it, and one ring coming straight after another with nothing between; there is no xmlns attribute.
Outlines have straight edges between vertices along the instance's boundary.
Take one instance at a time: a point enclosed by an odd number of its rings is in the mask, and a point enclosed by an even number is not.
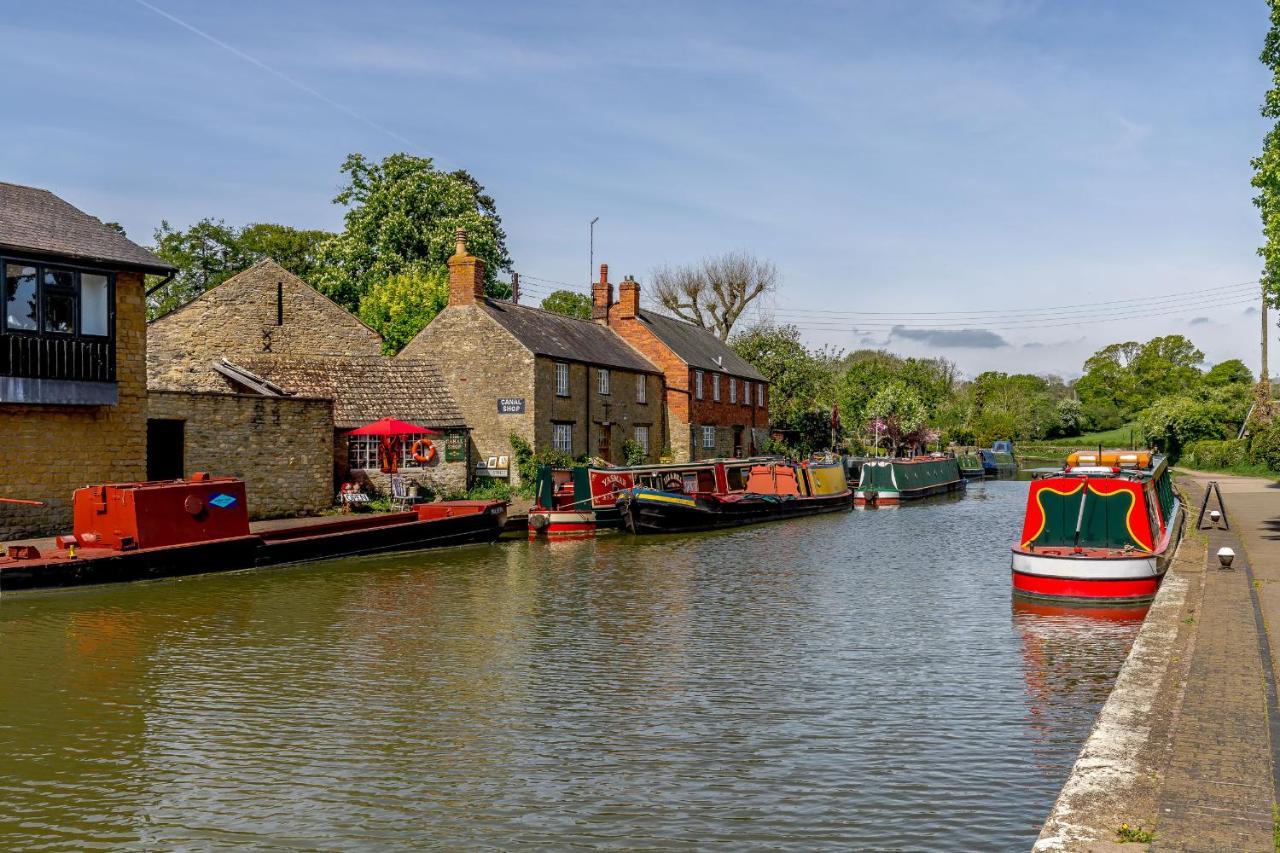
<svg viewBox="0 0 1280 853"><path fill-rule="evenodd" d="M602 394L599 368L566 362L570 393L562 397L556 393L556 364L553 359L539 357L535 366L538 447L552 447L556 424L572 424L573 456L603 457L602 439L608 423L607 461L618 465L623 461L622 443L635 438L636 426L648 426L649 461L657 461L667 439L660 377L609 369L609 393ZM637 375L645 380L645 402L636 401Z"/></svg>

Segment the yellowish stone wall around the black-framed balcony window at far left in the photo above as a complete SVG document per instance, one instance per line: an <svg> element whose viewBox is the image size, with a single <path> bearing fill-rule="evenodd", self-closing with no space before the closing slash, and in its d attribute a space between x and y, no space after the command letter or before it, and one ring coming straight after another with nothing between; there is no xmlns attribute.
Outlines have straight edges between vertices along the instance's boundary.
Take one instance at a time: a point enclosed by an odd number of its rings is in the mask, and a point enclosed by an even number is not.
<svg viewBox="0 0 1280 853"><path fill-rule="evenodd" d="M0 539L69 532L72 492L146 476L146 309L140 273L115 277L114 406L0 405Z"/></svg>

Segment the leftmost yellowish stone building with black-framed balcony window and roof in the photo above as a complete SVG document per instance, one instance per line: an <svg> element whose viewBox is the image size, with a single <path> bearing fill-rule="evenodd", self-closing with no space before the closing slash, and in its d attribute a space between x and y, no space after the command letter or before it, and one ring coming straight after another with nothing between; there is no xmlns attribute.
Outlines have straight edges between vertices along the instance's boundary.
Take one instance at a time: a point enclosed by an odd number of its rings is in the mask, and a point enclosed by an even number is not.
<svg viewBox="0 0 1280 853"><path fill-rule="evenodd" d="M146 474L143 277L175 270L46 190L0 183L0 538L61 530L72 492Z"/></svg>

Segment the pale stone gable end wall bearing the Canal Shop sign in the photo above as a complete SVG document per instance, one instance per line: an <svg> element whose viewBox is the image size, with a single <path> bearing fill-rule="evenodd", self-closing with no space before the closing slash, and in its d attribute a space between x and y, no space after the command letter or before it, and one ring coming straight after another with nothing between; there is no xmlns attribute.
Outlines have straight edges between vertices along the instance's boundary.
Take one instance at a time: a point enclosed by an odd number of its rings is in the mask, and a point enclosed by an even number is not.
<svg viewBox="0 0 1280 853"><path fill-rule="evenodd" d="M431 359L471 428L468 464L490 456L513 457L511 434L531 444L534 435L534 355L475 305L440 311L401 352ZM499 414L498 398L525 401L525 412ZM518 479L512 459L512 485Z"/></svg>

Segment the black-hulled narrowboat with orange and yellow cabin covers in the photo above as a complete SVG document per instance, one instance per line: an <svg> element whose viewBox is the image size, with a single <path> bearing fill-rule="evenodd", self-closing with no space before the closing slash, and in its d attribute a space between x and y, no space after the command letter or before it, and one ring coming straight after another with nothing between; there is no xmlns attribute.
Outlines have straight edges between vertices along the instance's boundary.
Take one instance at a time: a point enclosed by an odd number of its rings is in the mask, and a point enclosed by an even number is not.
<svg viewBox="0 0 1280 853"><path fill-rule="evenodd" d="M713 488L655 489L637 485L618 501L622 523L631 533L689 533L763 521L780 521L850 507L845 466L831 461L758 461L745 470L739 487L717 464Z"/></svg>

